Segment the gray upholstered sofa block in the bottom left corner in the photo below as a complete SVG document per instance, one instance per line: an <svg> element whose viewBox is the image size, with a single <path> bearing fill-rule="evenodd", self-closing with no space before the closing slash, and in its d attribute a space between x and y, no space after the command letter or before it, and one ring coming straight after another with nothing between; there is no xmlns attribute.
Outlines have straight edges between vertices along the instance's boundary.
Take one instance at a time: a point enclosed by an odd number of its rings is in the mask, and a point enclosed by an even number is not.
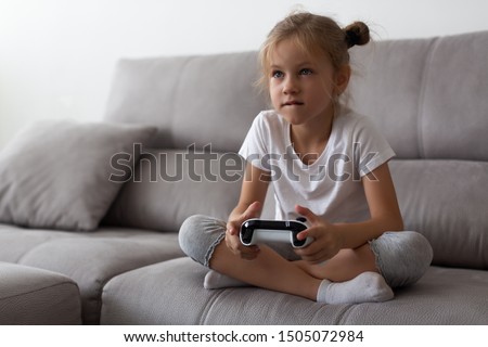
<svg viewBox="0 0 488 347"><path fill-rule="evenodd" d="M80 324L81 299L65 275L0 262L0 324Z"/></svg>

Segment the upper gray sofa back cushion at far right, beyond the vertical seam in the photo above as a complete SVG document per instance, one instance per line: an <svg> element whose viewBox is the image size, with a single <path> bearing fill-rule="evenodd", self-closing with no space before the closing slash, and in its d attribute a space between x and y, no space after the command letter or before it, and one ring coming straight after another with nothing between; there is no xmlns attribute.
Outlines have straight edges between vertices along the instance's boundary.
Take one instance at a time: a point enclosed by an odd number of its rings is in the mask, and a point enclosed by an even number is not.
<svg viewBox="0 0 488 347"><path fill-rule="evenodd" d="M423 92L427 158L488 162L488 31L438 39Z"/></svg>

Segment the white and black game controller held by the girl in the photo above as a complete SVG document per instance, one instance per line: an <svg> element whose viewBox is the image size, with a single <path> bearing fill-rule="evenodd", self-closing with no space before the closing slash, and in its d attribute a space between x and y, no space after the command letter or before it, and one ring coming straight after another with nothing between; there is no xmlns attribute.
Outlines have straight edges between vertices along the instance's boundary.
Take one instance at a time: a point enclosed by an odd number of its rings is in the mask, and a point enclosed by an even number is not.
<svg viewBox="0 0 488 347"><path fill-rule="evenodd" d="M305 218L298 220L247 219L241 226L239 236L245 246L262 242L290 242L294 248L308 246L313 237L298 240L296 235L307 229Z"/></svg>

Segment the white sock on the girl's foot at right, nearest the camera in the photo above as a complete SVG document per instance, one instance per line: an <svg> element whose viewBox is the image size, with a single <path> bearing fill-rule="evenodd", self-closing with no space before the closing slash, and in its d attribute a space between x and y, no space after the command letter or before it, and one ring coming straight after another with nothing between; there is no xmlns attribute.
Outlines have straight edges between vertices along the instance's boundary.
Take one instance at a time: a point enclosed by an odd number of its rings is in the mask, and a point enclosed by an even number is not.
<svg viewBox="0 0 488 347"><path fill-rule="evenodd" d="M394 298L385 279L376 272L363 272L346 282L323 280L317 301L326 304L382 303Z"/></svg>

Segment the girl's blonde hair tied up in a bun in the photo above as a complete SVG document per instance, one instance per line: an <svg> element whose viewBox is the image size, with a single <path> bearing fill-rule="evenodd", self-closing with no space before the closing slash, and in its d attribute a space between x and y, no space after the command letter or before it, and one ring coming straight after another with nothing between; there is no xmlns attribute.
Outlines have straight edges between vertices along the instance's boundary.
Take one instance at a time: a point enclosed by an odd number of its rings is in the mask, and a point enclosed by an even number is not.
<svg viewBox="0 0 488 347"><path fill-rule="evenodd" d="M271 54L277 46L292 40L305 52L314 57L326 56L335 72L349 64L348 49L370 41L370 30L362 22L355 22L344 29L326 16L308 12L294 13L279 22L268 34L259 52L261 78L258 86L268 87Z"/></svg>

